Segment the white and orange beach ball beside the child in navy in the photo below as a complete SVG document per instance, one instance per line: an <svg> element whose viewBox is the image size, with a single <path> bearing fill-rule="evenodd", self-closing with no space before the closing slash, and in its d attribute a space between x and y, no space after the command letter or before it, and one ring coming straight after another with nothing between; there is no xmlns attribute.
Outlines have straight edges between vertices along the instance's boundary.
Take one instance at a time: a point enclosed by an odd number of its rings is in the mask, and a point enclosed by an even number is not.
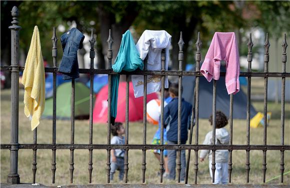
<svg viewBox="0 0 290 188"><path fill-rule="evenodd" d="M147 103L147 121L153 125L158 125L160 117L160 100L153 99Z"/></svg>

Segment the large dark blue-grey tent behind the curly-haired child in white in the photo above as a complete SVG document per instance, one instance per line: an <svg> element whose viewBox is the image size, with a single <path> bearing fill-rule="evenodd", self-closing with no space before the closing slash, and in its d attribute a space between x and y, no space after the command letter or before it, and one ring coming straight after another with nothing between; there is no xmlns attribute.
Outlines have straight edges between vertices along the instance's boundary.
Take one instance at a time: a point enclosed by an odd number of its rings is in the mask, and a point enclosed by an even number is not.
<svg viewBox="0 0 290 188"><path fill-rule="evenodd" d="M225 72L224 66L220 67L220 72ZM182 77L182 87L182 97L192 104L195 77ZM213 80L207 82L203 76L199 77L199 118L208 118L212 114L212 88ZM229 95L226 91L224 77L219 77L219 80L216 81L216 110L221 110L229 118ZM250 118L256 113L254 107L250 105ZM246 95L241 89L233 95L232 115L234 119L246 119Z"/></svg>

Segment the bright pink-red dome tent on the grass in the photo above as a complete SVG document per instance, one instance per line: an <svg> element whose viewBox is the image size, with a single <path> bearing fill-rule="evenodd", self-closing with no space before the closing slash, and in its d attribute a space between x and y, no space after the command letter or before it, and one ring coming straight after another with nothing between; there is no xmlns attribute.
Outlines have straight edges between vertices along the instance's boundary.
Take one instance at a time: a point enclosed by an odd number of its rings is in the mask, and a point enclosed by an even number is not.
<svg viewBox="0 0 290 188"><path fill-rule="evenodd" d="M104 86L99 91L93 109L93 123L107 122L107 89ZM156 99L157 94L147 95L147 102ZM126 113L126 82L120 82L118 88L118 104L116 122L125 122ZM134 97L133 85L129 83L129 121L141 121L143 119L143 97Z"/></svg>

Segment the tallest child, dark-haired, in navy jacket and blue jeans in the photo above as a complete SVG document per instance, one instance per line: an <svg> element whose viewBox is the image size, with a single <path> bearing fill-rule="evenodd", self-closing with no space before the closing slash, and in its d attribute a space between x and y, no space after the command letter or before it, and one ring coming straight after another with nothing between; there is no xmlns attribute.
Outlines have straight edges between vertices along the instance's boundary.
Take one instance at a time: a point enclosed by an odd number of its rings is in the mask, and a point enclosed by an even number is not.
<svg viewBox="0 0 290 188"><path fill-rule="evenodd" d="M171 102L164 108L164 127L167 131L167 143L177 144L177 127L178 127L178 84L171 84L169 87L169 95L172 98ZM181 95L181 93L180 93ZM181 102L181 125L180 125L180 141L185 144L187 140L187 129L190 128L192 105L182 98ZM168 150L168 179L175 179L176 166L176 150ZM185 150L181 150L181 171L180 180L185 178Z"/></svg>

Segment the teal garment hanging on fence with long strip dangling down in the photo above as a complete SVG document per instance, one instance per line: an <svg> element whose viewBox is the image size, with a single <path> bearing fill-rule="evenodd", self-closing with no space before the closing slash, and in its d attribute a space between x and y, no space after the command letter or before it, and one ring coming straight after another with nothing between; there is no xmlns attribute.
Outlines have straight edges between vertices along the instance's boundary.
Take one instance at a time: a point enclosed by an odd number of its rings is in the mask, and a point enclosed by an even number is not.
<svg viewBox="0 0 290 188"><path fill-rule="evenodd" d="M122 35L122 41L119 52L112 69L114 72L121 71L134 71L137 68L143 70L143 61L139 57L139 53L135 47L132 35L127 30ZM118 100L118 87L120 75L112 75L111 79L111 124L114 124L117 115L117 100Z"/></svg>

